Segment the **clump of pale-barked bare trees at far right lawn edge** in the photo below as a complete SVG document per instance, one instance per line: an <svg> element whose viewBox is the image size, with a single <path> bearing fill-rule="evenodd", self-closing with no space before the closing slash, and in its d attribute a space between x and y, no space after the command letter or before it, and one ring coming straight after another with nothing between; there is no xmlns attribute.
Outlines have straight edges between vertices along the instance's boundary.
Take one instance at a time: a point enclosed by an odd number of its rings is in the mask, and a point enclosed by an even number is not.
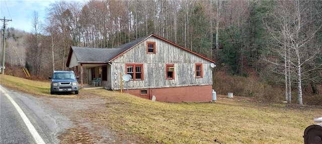
<svg viewBox="0 0 322 144"><path fill-rule="evenodd" d="M312 61L319 55L321 48L308 47L309 43L315 37L315 33L320 29L321 25L319 20L314 18L308 18L312 13L319 13L308 6L309 1L278 1L278 6L273 14L276 22L272 22L268 25L268 29L271 35L277 41L277 48L275 53L283 57L284 63L273 62L275 65L284 67L285 74L285 99L291 102L291 79L296 80L296 86L298 90L298 103L303 104L302 99L302 84L303 74L319 68L320 64L310 66L310 68L303 71L302 67ZM313 28L305 28L308 25L317 25ZM278 48L280 47L280 49ZM309 50L310 52L305 52ZM306 53L306 54L304 54ZM276 57L278 58L278 57ZM279 61L279 60L277 60ZM296 72L296 76L292 78L293 70Z"/></svg>

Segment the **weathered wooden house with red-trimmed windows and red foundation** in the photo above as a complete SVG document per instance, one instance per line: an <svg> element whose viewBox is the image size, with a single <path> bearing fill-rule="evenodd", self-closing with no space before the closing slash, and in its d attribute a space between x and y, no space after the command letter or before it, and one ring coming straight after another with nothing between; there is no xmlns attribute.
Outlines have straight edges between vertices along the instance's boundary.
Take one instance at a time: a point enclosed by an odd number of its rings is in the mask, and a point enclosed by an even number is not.
<svg viewBox="0 0 322 144"><path fill-rule="evenodd" d="M157 101L210 101L212 99L213 60L156 34L150 34L117 48L70 46L66 66L88 70L88 79L101 77L101 85L121 89L121 75L130 94ZM128 85L127 85L128 84Z"/></svg>

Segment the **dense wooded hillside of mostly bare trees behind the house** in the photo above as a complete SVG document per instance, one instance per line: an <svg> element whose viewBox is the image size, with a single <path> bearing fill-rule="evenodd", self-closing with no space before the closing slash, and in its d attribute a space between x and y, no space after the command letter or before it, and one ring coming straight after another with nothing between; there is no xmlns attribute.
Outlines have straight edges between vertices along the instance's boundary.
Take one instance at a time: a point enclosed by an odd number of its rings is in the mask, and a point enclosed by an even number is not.
<svg viewBox="0 0 322 144"><path fill-rule="evenodd" d="M6 29L6 65L48 77L67 70L71 45L154 33L215 60L219 93L322 105L320 0L61 0L46 11L45 21L34 12L32 32Z"/></svg>

